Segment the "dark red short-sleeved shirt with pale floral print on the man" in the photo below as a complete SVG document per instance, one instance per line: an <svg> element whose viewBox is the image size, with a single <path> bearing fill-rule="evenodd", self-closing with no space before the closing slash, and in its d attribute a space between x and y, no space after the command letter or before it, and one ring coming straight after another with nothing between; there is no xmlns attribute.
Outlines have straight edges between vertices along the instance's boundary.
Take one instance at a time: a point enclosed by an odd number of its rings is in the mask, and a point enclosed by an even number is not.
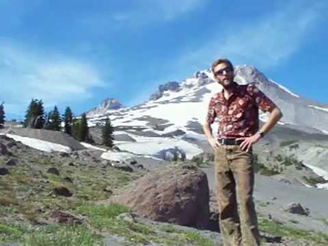
<svg viewBox="0 0 328 246"><path fill-rule="evenodd" d="M218 122L219 138L249 137L258 131L258 109L271 112L275 107L255 85L235 83L228 100L223 90L210 99L206 121L209 124Z"/></svg>

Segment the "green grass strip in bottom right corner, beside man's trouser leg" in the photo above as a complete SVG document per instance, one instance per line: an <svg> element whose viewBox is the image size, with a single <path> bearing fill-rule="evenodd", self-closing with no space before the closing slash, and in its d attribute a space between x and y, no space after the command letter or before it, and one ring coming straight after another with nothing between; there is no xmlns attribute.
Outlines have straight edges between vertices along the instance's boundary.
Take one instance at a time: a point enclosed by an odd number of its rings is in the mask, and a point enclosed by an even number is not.
<svg viewBox="0 0 328 246"><path fill-rule="evenodd" d="M273 236L282 236L298 241L315 243L316 246L327 246L328 235L313 230L301 230L284 226L281 222L269 219L259 219L260 230Z"/></svg>

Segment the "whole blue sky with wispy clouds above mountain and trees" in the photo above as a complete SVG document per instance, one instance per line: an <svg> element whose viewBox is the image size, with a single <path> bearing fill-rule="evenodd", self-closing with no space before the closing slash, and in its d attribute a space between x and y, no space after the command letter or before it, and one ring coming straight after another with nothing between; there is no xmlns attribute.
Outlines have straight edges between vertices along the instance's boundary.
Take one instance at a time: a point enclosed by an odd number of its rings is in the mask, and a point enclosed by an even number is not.
<svg viewBox="0 0 328 246"><path fill-rule="evenodd" d="M228 57L328 105L328 1L0 0L0 100L75 114L132 106Z"/></svg>

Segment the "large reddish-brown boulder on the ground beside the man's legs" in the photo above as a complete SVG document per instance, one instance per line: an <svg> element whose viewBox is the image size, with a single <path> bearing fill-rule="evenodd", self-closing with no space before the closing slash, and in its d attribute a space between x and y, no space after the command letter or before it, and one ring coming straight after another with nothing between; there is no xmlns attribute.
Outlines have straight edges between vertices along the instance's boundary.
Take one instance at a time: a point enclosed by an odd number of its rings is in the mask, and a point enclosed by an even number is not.
<svg viewBox="0 0 328 246"><path fill-rule="evenodd" d="M141 217L194 228L208 225L207 176L193 165L156 169L116 194L110 202L128 206Z"/></svg>

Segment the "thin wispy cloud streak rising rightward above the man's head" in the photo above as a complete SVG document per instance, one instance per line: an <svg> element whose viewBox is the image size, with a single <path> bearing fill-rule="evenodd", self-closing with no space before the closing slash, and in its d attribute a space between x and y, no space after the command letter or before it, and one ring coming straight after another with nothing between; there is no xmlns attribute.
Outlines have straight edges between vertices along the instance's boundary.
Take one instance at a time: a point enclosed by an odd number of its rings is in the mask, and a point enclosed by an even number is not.
<svg viewBox="0 0 328 246"><path fill-rule="evenodd" d="M321 15L316 4L299 6L294 2L256 21L226 25L208 37L202 47L182 55L180 66L207 68L217 57L229 57L234 63L275 66L309 39L308 33Z"/></svg>

